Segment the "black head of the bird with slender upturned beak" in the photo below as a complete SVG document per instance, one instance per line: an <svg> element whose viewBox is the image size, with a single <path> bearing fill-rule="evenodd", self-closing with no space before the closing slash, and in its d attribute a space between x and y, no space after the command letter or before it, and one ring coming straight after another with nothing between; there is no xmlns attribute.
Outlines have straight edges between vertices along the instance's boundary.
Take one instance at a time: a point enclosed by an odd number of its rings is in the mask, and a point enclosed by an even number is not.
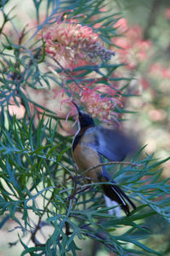
<svg viewBox="0 0 170 256"><path fill-rule="evenodd" d="M79 119L79 124L80 128L82 129L83 127L89 126L89 125L94 125L94 119L88 114L88 113L83 113L78 107L75 102L72 102L75 107L77 108L78 112L78 119Z"/></svg>

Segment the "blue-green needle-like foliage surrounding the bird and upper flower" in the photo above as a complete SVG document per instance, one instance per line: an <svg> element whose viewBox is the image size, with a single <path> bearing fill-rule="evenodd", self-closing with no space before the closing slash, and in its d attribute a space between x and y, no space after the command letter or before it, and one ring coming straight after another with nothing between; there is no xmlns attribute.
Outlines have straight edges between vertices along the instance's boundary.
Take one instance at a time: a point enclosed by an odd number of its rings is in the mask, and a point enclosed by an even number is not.
<svg viewBox="0 0 170 256"><path fill-rule="evenodd" d="M114 75L123 64L111 60L65 68L59 61L46 61L45 42L37 36L44 26L63 19L66 13L66 19L76 17L82 26L98 32L105 45L113 46L112 38L119 36L115 25L120 15L108 12L106 3L99 0L34 0L36 28L32 28L35 24L29 29L18 28L14 9L8 12L8 3L10 0L1 2L0 227L12 219L14 230L18 230L18 238L9 245L20 243L21 255L78 255L79 241L89 238L117 255L162 255L164 251L144 245L143 240L151 236L144 221L159 215L169 223L170 185L168 178L161 179L161 164L169 158L156 160L154 154L142 155L142 148L129 164L115 163L108 168L115 170L111 176L125 191L131 191L137 205L130 216L116 218L108 214L99 183L89 184L77 173L71 157L72 137L63 136L65 131L67 135L75 132L70 131L71 126L70 130L65 128L69 122L72 125L74 113L66 107L65 112L59 112L61 103L68 104L71 96L81 102L84 88L97 93L100 83L103 88L108 86L107 96L116 102L111 111L120 122L127 112L122 103L132 96L127 90L130 79ZM71 90L72 84L78 92ZM98 90L98 94L103 102L106 93ZM42 101L37 101L38 96ZM53 98L58 108L48 108ZM86 103L84 108L92 102Z"/></svg>

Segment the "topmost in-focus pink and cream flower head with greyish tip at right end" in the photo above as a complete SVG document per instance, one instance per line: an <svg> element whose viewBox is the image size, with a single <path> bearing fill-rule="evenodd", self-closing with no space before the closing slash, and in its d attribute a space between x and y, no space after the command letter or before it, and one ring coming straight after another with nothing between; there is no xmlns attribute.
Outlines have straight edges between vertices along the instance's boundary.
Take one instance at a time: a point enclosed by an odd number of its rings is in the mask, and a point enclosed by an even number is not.
<svg viewBox="0 0 170 256"><path fill-rule="evenodd" d="M43 39L46 53L70 69L80 59L95 62L100 58L108 61L115 55L115 52L105 49L92 28L78 24L77 20L57 21L46 31Z"/></svg>

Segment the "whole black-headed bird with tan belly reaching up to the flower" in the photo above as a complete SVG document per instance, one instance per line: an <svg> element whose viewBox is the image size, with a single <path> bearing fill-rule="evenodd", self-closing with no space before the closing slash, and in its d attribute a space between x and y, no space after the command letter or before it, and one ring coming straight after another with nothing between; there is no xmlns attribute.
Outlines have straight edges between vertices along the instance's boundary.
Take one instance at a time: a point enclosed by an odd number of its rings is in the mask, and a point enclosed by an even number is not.
<svg viewBox="0 0 170 256"><path fill-rule="evenodd" d="M122 161L133 151L130 137L126 137L121 131L94 125L94 119L88 113L83 113L75 102L72 103L77 108L79 120L79 130L72 143L72 154L82 172L102 163L101 156L108 160ZM112 183L101 184L107 207L115 206L116 202L127 215L130 213L129 205L136 209L133 201L116 185L116 182L110 180L104 166L99 166L86 175L94 182Z"/></svg>

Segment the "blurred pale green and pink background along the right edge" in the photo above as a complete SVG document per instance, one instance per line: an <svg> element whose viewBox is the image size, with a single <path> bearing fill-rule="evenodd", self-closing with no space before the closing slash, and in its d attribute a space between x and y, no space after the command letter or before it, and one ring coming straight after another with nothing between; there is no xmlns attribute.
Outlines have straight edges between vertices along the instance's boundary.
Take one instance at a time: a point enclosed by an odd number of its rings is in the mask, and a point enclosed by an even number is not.
<svg viewBox="0 0 170 256"><path fill-rule="evenodd" d="M122 11L126 36L118 44L124 48L126 72L134 78L132 90L139 90L139 97L131 101L138 112L133 118L143 131L146 151L165 158L170 153L170 2L122 0L116 8ZM163 166L166 177L169 167L167 161Z"/></svg>

